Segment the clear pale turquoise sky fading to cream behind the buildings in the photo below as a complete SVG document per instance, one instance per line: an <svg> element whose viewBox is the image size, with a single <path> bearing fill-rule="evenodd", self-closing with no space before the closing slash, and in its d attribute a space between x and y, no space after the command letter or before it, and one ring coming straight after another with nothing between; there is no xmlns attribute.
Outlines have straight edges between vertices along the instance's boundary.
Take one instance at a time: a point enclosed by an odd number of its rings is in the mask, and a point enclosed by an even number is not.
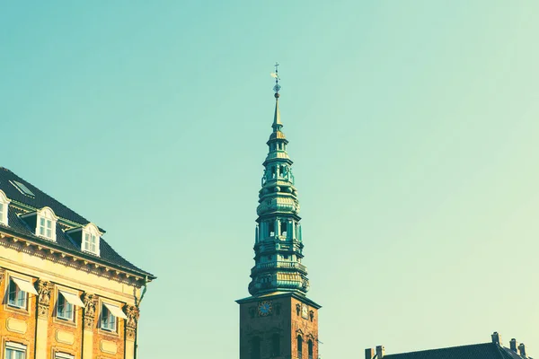
<svg viewBox="0 0 539 359"><path fill-rule="evenodd" d="M5 2L0 166L157 279L139 357L239 356L279 108L322 358L539 354L539 3Z"/></svg>

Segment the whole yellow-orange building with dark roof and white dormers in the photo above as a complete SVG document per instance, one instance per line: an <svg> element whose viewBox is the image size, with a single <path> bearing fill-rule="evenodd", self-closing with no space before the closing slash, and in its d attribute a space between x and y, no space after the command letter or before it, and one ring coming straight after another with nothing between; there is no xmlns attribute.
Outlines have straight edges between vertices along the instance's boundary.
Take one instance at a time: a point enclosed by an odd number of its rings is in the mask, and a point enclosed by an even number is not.
<svg viewBox="0 0 539 359"><path fill-rule="evenodd" d="M0 359L134 359L155 276L105 231L0 167Z"/></svg>

